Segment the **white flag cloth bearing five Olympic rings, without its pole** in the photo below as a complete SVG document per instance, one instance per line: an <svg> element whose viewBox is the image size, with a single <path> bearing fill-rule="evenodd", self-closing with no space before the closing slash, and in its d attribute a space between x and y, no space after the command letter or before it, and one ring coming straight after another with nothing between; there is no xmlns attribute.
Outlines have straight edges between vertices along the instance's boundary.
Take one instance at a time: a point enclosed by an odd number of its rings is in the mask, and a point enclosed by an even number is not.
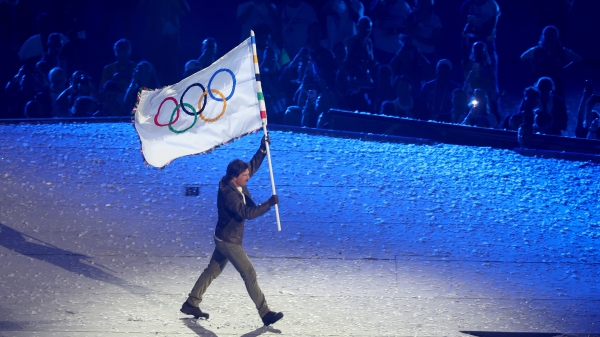
<svg viewBox="0 0 600 337"><path fill-rule="evenodd" d="M146 162L164 167L262 126L248 38L207 68L158 90L142 90L134 125Z"/></svg>

